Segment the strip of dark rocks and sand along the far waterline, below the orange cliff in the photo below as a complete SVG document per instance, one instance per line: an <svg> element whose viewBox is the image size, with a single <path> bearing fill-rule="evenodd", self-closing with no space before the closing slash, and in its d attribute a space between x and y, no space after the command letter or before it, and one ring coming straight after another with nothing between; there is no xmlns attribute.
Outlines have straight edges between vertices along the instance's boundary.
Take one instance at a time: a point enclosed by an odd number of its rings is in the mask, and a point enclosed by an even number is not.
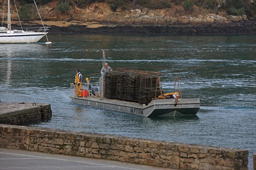
<svg viewBox="0 0 256 170"><path fill-rule="evenodd" d="M37 23L27 22L22 24L23 27L41 26ZM97 23L99 25L99 23ZM172 24L172 25L136 25L136 24L113 24L101 23L100 26L89 26L87 23L69 24L61 26L60 24L51 23L49 34L126 34L126 35L226 35L226 34L256 34L256 20L247 20L233 23L191 23L191 24ZM20 27L12 24L12 28Z"/></svg>

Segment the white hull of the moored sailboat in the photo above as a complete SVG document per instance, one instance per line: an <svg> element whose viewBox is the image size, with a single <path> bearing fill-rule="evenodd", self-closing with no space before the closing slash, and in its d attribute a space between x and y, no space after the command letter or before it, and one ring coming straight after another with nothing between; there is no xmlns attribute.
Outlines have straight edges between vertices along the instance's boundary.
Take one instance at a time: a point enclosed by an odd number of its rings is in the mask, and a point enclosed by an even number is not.
<svg viewBox="0 0 256 170"><path fill-rule="evenodd" d="M0 33L0 43L36 43L46 34L47 32L31 32L19 34Z"/></svg>

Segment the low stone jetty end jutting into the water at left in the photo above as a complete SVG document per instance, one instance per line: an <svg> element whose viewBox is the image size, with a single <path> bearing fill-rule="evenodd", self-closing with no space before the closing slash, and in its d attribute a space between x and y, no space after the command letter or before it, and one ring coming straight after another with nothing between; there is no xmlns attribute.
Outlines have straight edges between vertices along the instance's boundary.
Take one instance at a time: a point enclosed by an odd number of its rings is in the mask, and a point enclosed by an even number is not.
<svg viewBox="0 0 256 170"><path fill-rule="evenodd" d="M0 124L24 125L52 117L50 104L0 103Z"/></svg>

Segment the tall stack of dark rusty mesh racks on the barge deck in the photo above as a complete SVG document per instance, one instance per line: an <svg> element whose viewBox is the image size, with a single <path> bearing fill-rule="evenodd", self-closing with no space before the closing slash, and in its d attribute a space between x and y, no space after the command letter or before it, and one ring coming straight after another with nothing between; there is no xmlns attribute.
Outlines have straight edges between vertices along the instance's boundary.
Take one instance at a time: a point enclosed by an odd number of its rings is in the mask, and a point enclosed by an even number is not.
<svg viewBox="0 0 256 170"><path fill-rule="evenodd" d="M118 68L105 75L105 98L148 104L162 95L159 72Z"/></svg>

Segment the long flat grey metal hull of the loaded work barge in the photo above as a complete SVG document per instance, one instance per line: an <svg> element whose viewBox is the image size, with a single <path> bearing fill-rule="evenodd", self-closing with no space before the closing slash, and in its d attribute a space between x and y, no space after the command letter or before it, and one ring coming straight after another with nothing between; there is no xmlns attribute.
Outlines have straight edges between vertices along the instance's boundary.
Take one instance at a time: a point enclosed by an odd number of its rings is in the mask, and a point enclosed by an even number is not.
<svg viewBox="0 0 256 170"><path fill-rule="evenodd" d="M70 98L77 104L84 104L91 107L109 109L145 117L196 115L200 109L199 98L179 99L177 104L174 99L157 99L151 101L148 105L106 98L74 96L70 96Z"/></svg>

